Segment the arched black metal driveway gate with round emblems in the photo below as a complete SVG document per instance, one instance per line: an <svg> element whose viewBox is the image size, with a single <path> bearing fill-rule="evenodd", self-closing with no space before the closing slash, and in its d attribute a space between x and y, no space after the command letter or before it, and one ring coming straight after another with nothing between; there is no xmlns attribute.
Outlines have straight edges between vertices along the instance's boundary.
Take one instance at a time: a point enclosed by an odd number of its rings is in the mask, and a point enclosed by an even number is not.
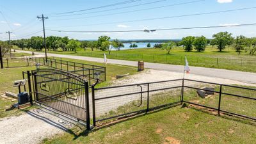
<svg viewBox="0 0 256 144"><path fill-rule="evenodd" d="M40 104L86 122L90 129L88 82L62 70L32 71L34 100Z"/></svg>

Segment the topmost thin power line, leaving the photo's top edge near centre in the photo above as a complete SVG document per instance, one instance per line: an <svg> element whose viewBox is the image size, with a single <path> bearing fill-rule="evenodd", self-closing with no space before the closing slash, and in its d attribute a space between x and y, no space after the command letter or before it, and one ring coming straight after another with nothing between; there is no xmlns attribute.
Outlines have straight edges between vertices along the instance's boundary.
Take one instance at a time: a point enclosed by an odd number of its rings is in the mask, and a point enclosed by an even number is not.
<svg viewBox="0 0 256 144"><path fill-rule="evenodd" d="M108 5L104 5L104 6L97 6L97 7L94 7L94 8L88 8L88 9L84 9L84 10L76 10L76 11L62 12L62 13L49 13L49 15L61 15L61 14L66 14L66 13L84 12L84 11L88 11L88 10L106 8L106 7L109 7L109 6L117 6L117 5L120 5L120 4L134 3L134 2L138 2L138 1L142 1L142 0L129 0L129 1L119 2L119 3L108 4Z"/></svg>

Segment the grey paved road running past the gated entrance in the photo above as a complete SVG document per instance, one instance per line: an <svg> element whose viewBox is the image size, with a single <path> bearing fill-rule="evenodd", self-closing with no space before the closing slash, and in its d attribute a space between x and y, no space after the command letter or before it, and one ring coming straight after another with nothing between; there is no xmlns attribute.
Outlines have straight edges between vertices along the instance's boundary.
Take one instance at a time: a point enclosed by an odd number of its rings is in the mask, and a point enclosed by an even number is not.
<svg viewBox="0 0 256 144"><path fill-rule="evenodd" d="M31 53L29 51L18 51L18 52ZM35 54L44 54L44 53L35 52ZM51 54L51 53L48 53L47 56L95 61L100 63L103 62L102 58L92 58L92 57L86 57L86 56L72 56L72 55L66 55L66 54ZM108 63L119 64L119 65L129 65L134 67L137 67L138 65L137 61L114 60L114 59L108 59ZM180 72L182 76L182 70L184 67L182 65L169 65L169 64L146 62L145 68L152 68L156 70L167 70L171 72ZM196 74L200 76L219 77L223 79L232 79L235 81L243 81L246 83L256 84L256 73L253 73L253 72L240 72L235 70L223 70L223 69L217 69L217 68L204 68L204 67L190 67L190 70L191 70L191 74Z"/></svg>

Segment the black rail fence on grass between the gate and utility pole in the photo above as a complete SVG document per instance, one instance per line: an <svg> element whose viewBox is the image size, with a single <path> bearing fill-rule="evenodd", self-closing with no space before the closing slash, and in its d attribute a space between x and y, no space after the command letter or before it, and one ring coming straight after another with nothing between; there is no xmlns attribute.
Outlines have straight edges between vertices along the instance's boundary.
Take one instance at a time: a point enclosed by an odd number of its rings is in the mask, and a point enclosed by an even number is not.
<svg viewBox="0 0 256 144"><path fill-rule="evenodd" d="M64 70L66 72L71 72L78 77L86 79L89 85L96 81L94 76L96 72L100 74L100 81L106 81L106 67L100 67L98 65L90 65L85 63L76 63L61 59L57 60L52 58L47 58L47 61L44 59L44 65L47 67Z"/></svg>

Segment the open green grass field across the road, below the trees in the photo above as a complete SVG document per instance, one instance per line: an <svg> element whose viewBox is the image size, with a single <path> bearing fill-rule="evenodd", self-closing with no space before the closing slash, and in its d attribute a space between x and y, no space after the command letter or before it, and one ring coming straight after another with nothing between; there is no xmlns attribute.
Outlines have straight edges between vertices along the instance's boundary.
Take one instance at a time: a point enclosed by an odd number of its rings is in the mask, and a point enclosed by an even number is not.
<svg viewBox="0 0 256 144"><path fill-rule="evenodd" d="M75 52L52 52L57 54L70 54L77 56L91 56L103 58L102 51L86 51ZM197 67L223 68L228 70L240 70L246 72L256 72L256 55L249 55L245 52L237 54L232 47L227 47L223 52L218 52L216 47L207 47L205 52L184 52L182 47L175 47L170 54L162 49L128 49L123 51L111 51L108 58L118 60L147 61L154 63L169 63L173 65L184 65L184 56L186 55L189 65Z"/></svg>

